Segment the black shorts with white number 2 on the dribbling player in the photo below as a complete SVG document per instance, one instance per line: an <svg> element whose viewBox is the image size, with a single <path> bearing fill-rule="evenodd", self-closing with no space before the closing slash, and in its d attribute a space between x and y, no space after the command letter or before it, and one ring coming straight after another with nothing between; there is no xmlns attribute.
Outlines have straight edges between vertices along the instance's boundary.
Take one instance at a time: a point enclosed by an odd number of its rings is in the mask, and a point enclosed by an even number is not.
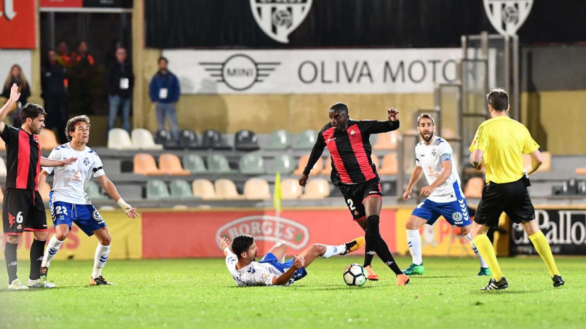
<svg viewBox="0 0 586 329"><path fill-rule="evenodd" d="M346 205L355 220L362 220L366 217L366 210L364 210L364 200L370 197L383 196L380 187L379 177L367 180L364 183L358 184L339 184L338 188L342 192Z"/></svg>

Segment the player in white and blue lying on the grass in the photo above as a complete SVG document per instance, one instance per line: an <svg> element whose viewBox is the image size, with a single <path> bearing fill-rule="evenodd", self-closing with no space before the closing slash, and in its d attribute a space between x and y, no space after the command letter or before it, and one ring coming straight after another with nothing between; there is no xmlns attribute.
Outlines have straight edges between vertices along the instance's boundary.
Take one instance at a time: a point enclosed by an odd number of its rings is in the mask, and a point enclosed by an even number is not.
<svg viewBox="0 0 586 329"><path fill-rule="evenodd" d="M255 262L258 248L252 235L239 235L230 242L218 237L226 256L226 266L239 286L288 286L307 275L305 268L319 256L329 258L346 255L364 245L364 238L356 238L338 246L312 244L299 256L285 262L287 244L278 242L260 262Z"/></svg>

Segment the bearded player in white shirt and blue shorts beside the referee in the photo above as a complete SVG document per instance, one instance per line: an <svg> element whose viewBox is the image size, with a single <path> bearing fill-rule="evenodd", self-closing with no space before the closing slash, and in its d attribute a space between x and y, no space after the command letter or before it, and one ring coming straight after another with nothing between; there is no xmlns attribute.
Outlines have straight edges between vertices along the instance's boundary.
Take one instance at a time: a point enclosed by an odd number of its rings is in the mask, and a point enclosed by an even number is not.
<svg viewBox="0 0 586 329"><path fill-rule="evenodd" d="M424 224L433 225L442 215L449 224L459 227L462 235L470 242L481 266L477 275L492 275L488 265L472 243L470 235L472 222L464 192L460 187L458 170L455 163L452 163L452 147L447 140L434 135L435 122L429 114L422 114L417 118L417 132L420 133L423 142L415 145L415 167L403 194L403 200L407 201L411 198L411 189L421 179L422 174L425 174L429 185L423 187L420 192L427 198L417 205L407 220L407 245L413 263L403 272L406 275L423 275L419 228Z"/></svg>

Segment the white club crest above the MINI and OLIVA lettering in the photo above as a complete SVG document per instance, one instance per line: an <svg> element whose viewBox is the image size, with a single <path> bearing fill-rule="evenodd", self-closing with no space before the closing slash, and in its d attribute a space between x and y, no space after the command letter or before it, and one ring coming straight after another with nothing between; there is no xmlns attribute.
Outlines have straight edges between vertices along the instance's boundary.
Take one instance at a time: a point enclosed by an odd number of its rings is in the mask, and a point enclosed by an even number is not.
<svg viewBox="0 0 586 329"><path fill-rule="evenodd" d="M250 0L250 9L264 33L289 43L289 34L303 22L311 4L312 0Z"/></svg>

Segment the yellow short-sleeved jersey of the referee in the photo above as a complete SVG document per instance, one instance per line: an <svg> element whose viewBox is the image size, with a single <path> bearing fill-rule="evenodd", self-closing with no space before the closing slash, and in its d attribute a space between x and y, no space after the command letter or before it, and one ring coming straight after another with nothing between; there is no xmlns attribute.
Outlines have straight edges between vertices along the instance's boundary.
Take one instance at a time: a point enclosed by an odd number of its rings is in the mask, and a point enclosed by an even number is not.
<svg viewBox="0 0 586 329"><path fill-rule="evenodd" d="M470 152L483 151L486 183L510 183L523 176L523 153L539 149L529 130L509 116L488 119L478 127Z"/></svg>

